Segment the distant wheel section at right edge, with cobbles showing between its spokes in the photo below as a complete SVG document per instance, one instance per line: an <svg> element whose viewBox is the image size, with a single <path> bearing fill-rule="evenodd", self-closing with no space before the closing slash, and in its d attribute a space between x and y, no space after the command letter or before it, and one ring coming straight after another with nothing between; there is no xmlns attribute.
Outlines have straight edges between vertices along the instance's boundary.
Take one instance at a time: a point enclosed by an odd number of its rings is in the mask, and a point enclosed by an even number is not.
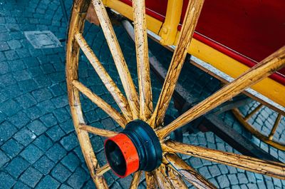
<svg viewBox="0 0 285 189"><path fill-rule="evenodd" d="M284 108L282 108L282 110L283 109ZM284 118L285 113L282 110L272 110L271 108L267 107L266 104L254 101L250 105L234 108L232 113L234 113L234 116L237 118L239 123L242 123L247 131L252 133L261 141L273 146L274 148L278 148L279 150L285 150L285 138L281 137L282 132L276 132L278 129L280 129L280 131L282 131L282 128L284 129L282 118ZM269 130L267 130L267 127L265 126L264 128L266 128L266 130L262 129L262 126L260 126L259 123L254 122L257 119L261 120L261 118L264 117L261 116L262 112L264 111L269 111L271 113L270 115L266 113L268 115L266 120L267 122L270 121L270 123L264 123L269 125ZM262 122L265 122L265 120Z"/></svg>

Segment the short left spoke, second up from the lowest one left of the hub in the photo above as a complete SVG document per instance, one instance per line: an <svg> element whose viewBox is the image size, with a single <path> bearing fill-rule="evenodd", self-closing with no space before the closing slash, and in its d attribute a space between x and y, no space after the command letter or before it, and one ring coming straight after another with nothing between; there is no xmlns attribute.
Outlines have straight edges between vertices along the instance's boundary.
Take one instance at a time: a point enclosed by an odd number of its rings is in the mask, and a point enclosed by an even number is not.
<svg viewBox="0 0 285 189"><path fill-rule="evenodd" d="M98 107L100 107L105 113L107 113L111 118L113 118L120 126L125 128L125 125L127 124L127 121L125 118L118 113L114 108L112 108L108 103L103 101L102 98L95 95L92 91L90 91L89 88L84 86L81 82L77 80L73 80L73 86L78 89L78 91L81 91L85 96L87 96L90 101L93 101Z"/></svg>

